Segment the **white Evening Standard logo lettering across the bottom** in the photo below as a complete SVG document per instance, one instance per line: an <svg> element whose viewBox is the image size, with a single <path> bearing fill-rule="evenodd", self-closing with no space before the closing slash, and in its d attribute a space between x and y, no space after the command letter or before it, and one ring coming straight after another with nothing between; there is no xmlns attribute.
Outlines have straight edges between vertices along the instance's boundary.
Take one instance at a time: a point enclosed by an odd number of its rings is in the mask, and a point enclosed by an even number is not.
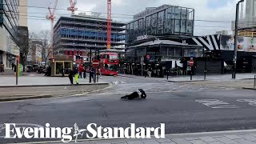
<svg viewBox="0 0 256 144"><path fill-rule="evenodd" d="M165 124L160 123L160 127L137 127L134 123L130 123L130 127L126 129L122 127L102 127L95 123L90 123L86 129L79 129L77 123L73 127L50 127L46 123L45 127L21 127L15 123L5 123L6 135L5 138L48 138L61 139L62 142L77 142L78 138L151 138L151 133L154 138L165 138Z"/></svg>

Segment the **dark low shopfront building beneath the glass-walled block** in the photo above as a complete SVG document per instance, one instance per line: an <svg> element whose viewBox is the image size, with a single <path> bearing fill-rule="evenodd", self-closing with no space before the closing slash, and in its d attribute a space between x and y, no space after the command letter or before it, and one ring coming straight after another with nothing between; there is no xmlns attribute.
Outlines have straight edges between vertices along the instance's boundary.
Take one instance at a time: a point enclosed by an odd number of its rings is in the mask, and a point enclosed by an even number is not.
<svg viewBox="0 0 256 144"><path fill-rule="evenodd" d="M192 54L192 55L191 55ZM170 40L154 40L138 46L130 46L127 50L128 74L141 75L151 70L151 76L162 78L166 71L174 71L175 75L187 74L182 58L202 58L202 46L188 45ZM143 60L142 60L143 59Z"/></svg>

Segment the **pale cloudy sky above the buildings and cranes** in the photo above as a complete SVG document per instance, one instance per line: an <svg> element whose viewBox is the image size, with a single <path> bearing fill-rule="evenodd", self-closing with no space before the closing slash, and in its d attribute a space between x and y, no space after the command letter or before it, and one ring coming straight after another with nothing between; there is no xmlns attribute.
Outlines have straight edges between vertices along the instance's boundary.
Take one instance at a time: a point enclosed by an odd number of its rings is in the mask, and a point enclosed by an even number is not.
<svg viewBox="0 0 256 144"><path fill-rule="evenodd" d="M53 7L55 0L28 0L29 6ZM82 11L95 11L103 13L106 17L106 0L77 0L78 10L76 14ZM196 20L211 21L233 21L235 17L235 4L238 0L112 0L112 17L114 20L129 22L132 15L145 10L146 7L157 7L163 4L174 6L185 6L195 9ZM66 7L70 6L69 0L58 0L58 9L56 10L56 21L63 16L70 16ZM30 32L40 30L50 30L50 21L46 20L48 10L29 8L28 21ZM104 14L105 13L105 14ZM90 14L89 12L87 14ZM127 15L118 15L127 14ZM119 17L119 18L115 18ZM55 22L56 22L55 21ZM218 30L231 30L230 22L195 22L195 35L215 34ZM231 31L230 31L231 33Z"/></svg>

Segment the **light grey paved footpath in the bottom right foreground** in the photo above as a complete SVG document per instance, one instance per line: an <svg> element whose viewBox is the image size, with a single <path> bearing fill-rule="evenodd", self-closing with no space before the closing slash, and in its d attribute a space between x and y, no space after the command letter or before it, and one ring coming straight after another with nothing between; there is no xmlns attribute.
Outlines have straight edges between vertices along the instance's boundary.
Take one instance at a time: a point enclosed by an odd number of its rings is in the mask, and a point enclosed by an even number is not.
<svg viewBox="0 0 256 144"><path fill-rule="evenodd" d="M51 142L49 142L51 143ZM52 142L61 143L61 142ZM193 134L166 134L166 138L90 139L84 144L256 144L256 130L233 130Z"/></svg>

